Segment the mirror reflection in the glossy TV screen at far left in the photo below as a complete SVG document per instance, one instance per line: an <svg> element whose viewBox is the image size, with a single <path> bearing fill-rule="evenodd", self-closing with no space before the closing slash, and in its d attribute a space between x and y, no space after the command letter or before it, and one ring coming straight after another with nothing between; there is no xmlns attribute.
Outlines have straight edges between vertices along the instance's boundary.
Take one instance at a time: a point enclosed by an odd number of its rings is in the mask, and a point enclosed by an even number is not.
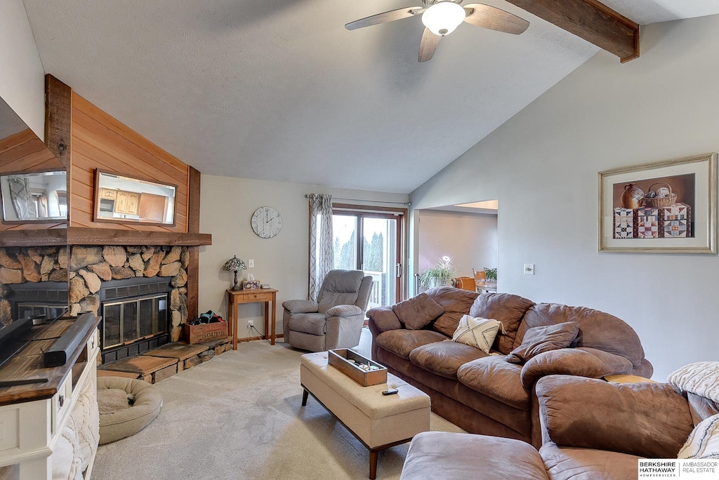
<svg viewBox="0 0 719 480"><path fill-rule="evenodd" d="M67 185L64 171L1 175L3 223L66 220Z"/></svg>

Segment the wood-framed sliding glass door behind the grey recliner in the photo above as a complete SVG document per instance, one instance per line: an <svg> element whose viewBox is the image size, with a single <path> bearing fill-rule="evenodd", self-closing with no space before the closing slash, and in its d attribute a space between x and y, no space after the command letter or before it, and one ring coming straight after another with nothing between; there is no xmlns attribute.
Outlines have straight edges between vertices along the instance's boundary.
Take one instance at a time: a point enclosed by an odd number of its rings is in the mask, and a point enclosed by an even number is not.
<svg viewBox="0 0 719 480"><path fill-rule="evenodd" d="M393 305L401 300L401 213L336 209L334 268L360 269L372 276L370 305Z"/></svg>

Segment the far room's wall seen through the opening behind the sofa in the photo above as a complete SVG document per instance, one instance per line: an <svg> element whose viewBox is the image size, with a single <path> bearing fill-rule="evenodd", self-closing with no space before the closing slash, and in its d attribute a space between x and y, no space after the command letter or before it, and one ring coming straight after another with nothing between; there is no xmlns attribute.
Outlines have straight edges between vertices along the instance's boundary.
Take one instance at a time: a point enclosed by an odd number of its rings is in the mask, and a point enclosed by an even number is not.
<svg viewBox="0 0 719 480"><path fill-rule="evenodd" d="M422 210L418 216L417 271L452 257L457 275L472 277L472 269L497 266L497 216L484 213Z"/></svg>

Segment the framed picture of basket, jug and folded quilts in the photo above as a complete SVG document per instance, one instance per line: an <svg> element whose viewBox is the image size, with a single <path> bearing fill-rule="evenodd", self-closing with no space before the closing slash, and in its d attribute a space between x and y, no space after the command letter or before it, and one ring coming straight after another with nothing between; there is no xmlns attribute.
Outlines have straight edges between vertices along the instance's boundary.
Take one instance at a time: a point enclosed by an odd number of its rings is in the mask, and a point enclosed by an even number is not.
<svg viewBox="0 0 719 480"><path fill-rule="evenodd" d="M599 172L599 251L717 252L717 154Z"/></svg>

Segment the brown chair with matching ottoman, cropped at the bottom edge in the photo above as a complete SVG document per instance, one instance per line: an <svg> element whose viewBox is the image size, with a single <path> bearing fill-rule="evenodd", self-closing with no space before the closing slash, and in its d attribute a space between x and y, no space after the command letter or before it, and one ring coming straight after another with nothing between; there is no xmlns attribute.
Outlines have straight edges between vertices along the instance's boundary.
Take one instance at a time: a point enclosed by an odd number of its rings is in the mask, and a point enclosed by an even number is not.
<svg viewBox="0 0 719 480"><path fill-rule="evenodd" d="M539 452L508 438L424 432L400 480L638 479L640 458L677 458L692 430L719 413L718 402L669 383L549 375L536 392Z"/></svg>

